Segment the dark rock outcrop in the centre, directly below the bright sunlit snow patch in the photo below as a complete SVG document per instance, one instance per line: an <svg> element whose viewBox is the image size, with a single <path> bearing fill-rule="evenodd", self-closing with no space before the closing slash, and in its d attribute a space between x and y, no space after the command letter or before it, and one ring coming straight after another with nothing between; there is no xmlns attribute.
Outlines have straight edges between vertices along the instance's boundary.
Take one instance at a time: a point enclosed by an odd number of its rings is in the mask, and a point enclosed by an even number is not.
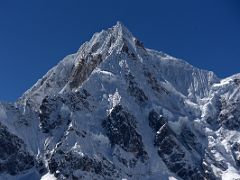
<svg viewBox="0 0 240 180"><path fill-rule="evenodd" d="M121 105L116 105L102 123L112 146L119 145L142 161L147 159L142 137L136 132L136 120Z"/></svg>

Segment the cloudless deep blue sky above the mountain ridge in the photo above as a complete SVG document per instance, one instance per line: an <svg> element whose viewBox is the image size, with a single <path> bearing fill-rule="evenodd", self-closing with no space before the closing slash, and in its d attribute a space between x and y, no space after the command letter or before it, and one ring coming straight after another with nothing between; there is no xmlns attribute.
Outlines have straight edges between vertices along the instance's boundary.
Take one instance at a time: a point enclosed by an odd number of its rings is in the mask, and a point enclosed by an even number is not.
<svg viewBox="0 0 240 180"><path fill-rule="evenodd" d="M0 2L0 100L16 100L118 20L148 48L219 77L240 72L239 0L6 0Z"/></svg>

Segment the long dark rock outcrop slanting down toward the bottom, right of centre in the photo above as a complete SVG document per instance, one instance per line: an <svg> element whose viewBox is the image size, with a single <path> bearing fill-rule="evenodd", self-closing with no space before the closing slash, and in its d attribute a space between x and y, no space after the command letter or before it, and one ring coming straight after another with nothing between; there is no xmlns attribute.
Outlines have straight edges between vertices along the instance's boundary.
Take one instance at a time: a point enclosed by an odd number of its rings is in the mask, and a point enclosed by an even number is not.
<svg viewBox="0 0 240 180"><path fill-rule="evenodd" d="M154 145L158 149L158 155L172 172L183 179L204 179L204 172L201 172L201 160L195 158L195 162L191 161L194 157L191 157L190 146L199 143L195 142L194 134L190 130L182 129L178 137L169 127L167 119L158 115L154 110L149 113L149 125L154 131L158 129ZM180 143L181 141L183 142Z"/></svg>

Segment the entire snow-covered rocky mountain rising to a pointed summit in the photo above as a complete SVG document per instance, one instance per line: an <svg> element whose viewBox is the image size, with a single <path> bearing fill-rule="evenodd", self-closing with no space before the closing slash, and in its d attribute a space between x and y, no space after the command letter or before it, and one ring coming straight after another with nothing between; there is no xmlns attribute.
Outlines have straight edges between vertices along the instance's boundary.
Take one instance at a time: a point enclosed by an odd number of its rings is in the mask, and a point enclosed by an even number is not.
<svg viewBox="0 0 240 180"><path fill-rule="evenodd" d="M240 75L93 35L15 103L0 103L0 179L240 178Z"/></svg>

